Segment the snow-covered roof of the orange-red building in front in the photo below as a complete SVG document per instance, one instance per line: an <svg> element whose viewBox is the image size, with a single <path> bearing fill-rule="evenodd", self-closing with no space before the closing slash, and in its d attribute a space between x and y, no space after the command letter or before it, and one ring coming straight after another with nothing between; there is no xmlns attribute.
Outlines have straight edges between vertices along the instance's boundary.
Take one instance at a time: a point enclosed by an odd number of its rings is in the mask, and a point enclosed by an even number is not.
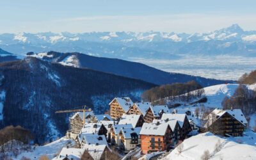
<svg viewBox="0 0 256 160"><path fill-rule="evenodd" d="M169 124L148 124L144 123L142 125L140 135L157 135L157 136L164 136L166 129L168 128Z"/></svg>

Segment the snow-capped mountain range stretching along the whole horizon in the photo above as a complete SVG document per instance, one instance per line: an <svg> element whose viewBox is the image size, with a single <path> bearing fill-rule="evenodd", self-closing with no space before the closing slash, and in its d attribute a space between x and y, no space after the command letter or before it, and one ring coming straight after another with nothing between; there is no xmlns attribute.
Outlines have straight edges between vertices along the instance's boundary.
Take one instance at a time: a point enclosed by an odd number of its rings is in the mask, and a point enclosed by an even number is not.
<svg viewBox="0 0 256 160"><path fill-rule="evenodd" d="M237 24L209 33L166 33L148 31L92 33L4 33L0 48L15 53L83 52L115 58L164 58L184 54L255 56L256 31L244 31Z"/></svg>

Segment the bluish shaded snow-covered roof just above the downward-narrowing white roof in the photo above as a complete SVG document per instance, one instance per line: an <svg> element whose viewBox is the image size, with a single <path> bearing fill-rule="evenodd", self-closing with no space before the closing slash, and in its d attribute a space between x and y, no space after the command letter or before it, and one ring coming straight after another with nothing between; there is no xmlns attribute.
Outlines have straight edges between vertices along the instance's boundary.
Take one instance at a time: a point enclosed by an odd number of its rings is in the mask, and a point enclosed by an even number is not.
<svg viewBox="0 0 256 160"><path fill-rule="evenodd" d="M98 134L92 134L92 133L86 133L86 134L79 134L79 142L84 140L85 144L88 145L108 145L108 142L106 140L106 137L104 135L98 135Z"/></svg>

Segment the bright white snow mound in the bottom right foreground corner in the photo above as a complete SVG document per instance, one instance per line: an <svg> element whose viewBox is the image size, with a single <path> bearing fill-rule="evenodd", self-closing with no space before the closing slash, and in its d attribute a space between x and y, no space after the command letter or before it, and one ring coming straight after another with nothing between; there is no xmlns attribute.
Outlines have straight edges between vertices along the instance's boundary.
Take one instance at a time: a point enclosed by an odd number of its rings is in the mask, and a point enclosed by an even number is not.
<svg viewBox="0 0 256 160"><path fill-rule="evenodd" d="M188 138L182 144L181 153L177 147L164 159L201 159L205 150L209 151L210 159L256 159L256 147L225 140L210 132Z"/></svg>

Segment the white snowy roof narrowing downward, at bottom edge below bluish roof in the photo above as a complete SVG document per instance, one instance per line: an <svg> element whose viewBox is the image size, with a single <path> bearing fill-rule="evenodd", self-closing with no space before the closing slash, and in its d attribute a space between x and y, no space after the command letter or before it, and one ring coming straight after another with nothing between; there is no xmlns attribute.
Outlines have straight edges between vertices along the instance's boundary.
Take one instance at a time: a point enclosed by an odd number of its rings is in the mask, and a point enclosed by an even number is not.
<svg viewBox="0 0 256 160"><path fill-rule="evenodd" d="M100 159L106 147L106 145L84 145L84 149L93 157L93 159Z"/></svg>

